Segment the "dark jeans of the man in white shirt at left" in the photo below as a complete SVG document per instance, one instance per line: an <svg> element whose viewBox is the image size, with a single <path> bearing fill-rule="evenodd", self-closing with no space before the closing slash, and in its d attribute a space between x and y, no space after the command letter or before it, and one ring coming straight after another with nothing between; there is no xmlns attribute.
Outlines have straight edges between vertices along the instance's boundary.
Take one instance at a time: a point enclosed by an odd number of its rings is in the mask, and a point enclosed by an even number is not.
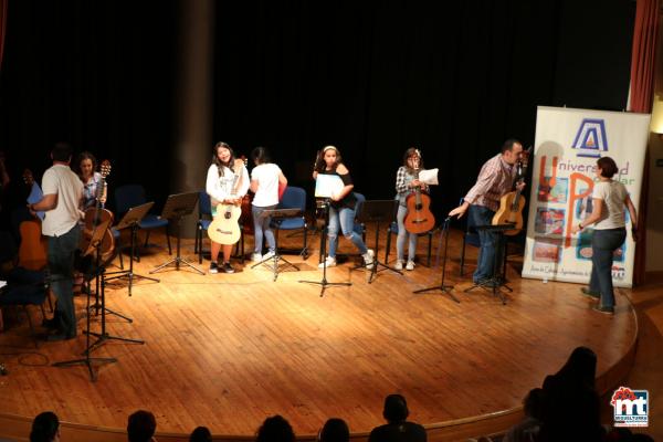
<svg viewBox="0 0 663 442"><path fill-rule="evenodd" d="M74 309L74 256L81 240L81 228L74 225L61 236L49 236L49 272L51 290L57 297L55 318L60 333L76 335Z"/></svg>

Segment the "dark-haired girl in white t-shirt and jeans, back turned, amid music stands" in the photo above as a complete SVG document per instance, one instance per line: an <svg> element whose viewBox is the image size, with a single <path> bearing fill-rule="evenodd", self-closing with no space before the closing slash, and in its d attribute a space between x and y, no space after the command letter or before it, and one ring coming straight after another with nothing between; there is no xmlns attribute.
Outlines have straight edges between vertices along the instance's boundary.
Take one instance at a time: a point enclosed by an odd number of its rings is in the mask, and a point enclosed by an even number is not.
<svg viewBox="0 0 663 442"><path fill-rule="evenodd" d="M255 193L251 203L255 248L252 261L260 262L274 255L276 241L270 223L271 217L261 218L264 210L275 209L278 204L278 186L287 186L287 179L275 164L271 162L270 154L264 147L256 147L251 152L255 167L251 171L251 190ZM263 235L267 240L269 252L262 255Z"/></svg>

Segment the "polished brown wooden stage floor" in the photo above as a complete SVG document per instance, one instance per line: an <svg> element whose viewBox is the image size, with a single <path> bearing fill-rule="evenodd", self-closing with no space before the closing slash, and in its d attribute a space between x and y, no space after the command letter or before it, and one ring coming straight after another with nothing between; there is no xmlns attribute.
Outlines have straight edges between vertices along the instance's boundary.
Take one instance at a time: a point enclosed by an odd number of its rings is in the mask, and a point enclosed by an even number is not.
<svg viewBox="0 0 663 442"><path fill-rule="evenodd" d="M471 277L459 277L460 232L451 236L448 281L460 304L442 292L412 293L440 283L440 269L423 265L403 275L379 272L368 284L364 270L341 264L328 281L352 285L320 297L318 286L298 283L322 278L318 236L307 261L285 256L299 271L284 269L276 282L270 270L246 262L232 275L166 270L154 275L160 283L137 282L131 297L125 283L110 283L107 306L134 323L110 315L108 332L146 344L110 340L94 351L118 359L95 365L94 383L84 366L50 366L78 358L83 335L34 349L25 322L14 320L0 334L10 371L0 378L0 413L31 418L53 410L66 422L123 429L129 413L148 409L159 432L207 425L232 435L254 434L275 413L297 434L315 434L327 418L340 417L362 433L382 422L382 400L392 392L407 397L411 420L433 428L513 411L577 346L596 350L606 386L628 372L638 333L629 291L617 290L617 314L606 316L591 311L578 285L522 280L509 265L514 292L502 305L481 288L463 293ZM151 250L136 273L169 259L164 249ZM197 264L192 241L182 250ZM349 250L341 240L340 252ZM476 250L469 253L471 273ZM76 298L80 317L84 303Z"/></svg>

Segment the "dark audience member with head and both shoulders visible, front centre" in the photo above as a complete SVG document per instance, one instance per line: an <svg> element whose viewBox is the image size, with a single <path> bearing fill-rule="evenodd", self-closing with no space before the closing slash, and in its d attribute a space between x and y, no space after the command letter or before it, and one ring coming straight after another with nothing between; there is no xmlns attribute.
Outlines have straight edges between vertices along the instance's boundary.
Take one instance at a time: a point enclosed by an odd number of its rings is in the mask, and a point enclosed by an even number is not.
<svg viewBox="0 0 663 442"><path fill-rule="evenodd" d="M408 422L408 402L401 394L389 394L385 399L382 415L386 425L376 427L368 436L369 442L425 442L425 430L422 425Z"/></svg>

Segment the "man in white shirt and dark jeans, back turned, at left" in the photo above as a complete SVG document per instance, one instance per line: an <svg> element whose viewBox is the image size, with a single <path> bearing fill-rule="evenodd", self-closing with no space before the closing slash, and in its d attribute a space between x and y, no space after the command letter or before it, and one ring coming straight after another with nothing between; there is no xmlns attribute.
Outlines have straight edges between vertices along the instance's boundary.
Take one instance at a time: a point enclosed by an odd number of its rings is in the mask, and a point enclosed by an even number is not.
<svg viewBox="0 0 663 442"><path fill-rule="evenodd" d="M83 182L70 169L72 147L69 144L57 143L51 158L53 166L42 178L43 198L28 208L32 214L46 212L42 234L49 238L51 288L57 296L54 316L57 330L48 340L64 340L76 337L73 280L74 254L81 239L78 204L83 198Z"/></svg>

